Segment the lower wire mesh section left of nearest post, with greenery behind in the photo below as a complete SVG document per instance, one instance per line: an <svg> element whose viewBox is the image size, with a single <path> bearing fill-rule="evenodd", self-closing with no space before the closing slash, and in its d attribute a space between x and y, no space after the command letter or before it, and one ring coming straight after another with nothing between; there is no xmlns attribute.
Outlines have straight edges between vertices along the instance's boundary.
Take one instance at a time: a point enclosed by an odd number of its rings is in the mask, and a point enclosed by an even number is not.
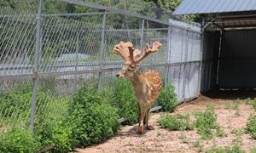
<svg viewBox="0 0 256 153"><path fill-rule="evenodd" d="M0 132L26 128L29 124L32 81L27 79L0 82Z"/></svg>

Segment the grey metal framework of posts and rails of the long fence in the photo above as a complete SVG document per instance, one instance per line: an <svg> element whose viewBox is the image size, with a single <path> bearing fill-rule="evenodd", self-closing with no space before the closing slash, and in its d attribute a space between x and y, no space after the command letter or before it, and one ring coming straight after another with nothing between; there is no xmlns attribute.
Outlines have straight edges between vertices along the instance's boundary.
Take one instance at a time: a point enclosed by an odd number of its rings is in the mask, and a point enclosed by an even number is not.
<svg viewBox="0 0 256 153"><path fill-rule="evenodd" d="M149 18L148 16L144 16L141 14L133 14L129 11L125 11L125 10L119 10L119 9L115 9L115 8L107 8L107 7L103 7L100 5L96 5L96 4L92 4L92 3L84 3L82 1L79 0L63 0L63 2L65 3L73 3L76 5L80 5L80 6L84 6L84 7L89 7L89 8L96 8L96 9L100 9L103 12L98 12L98 13L81 13L81 14L42 14L42 0L38 0L38 14L36 15L36 19L37 19L37 24L36 24L36 28L37 28L37 32L36 32L36 49L35 49L35 54L34 54L34 63L33 65L31 65L33 67L32 69L32 73L31 74L15 74L15 75L3 75L0 77L0 80L8 80L8 79L22 79L22 78L28 78L28 79L32 79L33 85L32 85L32 107L31 107L31 113L30 113L30 129L33 132L34 130L34 122L35 122L35 116L36 116L36 101L37 101L37 87L38 87L38 79L40 79L41 77L57 77L57 76L68 76L68 75L82 75L82 74L89 74L89 73L98 73L99 74L99 80L98 80L98 89L101 90L102 89L102 78L103 78L103 73L104 72L112 72L112 71L117 71L119 70L122 66L122 63L118 62L115 66L113 67L106 67L103 65L106 65L105 60L104 60L104 56L105 56L105 52L104 52L104 47L105 47L105 36L106 36L106 32L108 31L140 31L141 32L141 36L140 36L140 48L143 48L143 43L144 43L144 32L147 31L146 29L144 29L144 24L145 21L152 21L161 25L166 26L167 28L154 28L155 30L158 31L166 31L166 59L163 59L164 62L158 64L158 63L147 63L144 64L143 67L158 67L158 66L163 66L165 67L165 72L164 72L164 81L165 84L167 82L172 81L172 77L170 77L170 72L172 71L172 66L178 65L180 68L179 71L179 77L183 77L185 78L186 74L185 73L181 73L182 69L183 71L185 71L186 66L191 66L194 64L199 64L198 67L198 86L195 88L197 90L196 94L194 96L190 96L185 97L185 93L186 93L186 84L189 81L186 81L185 79L183 79L183 87L182 87L182 97L181 99L179 99L179 102L183 102L184 100L188 100L188 99L194 99L195 97L197 97L200 93L200 82L201 82L201 54L199 59L196 60L189 60L188 59L188 49L189 49L189 34L190 33L195 33L196 35L200 36L200 40L201 40L201 27L200 25L189 25L188 23L183 23L181 21L175 21L175 20L170 20L169 23L163 22L161 20L156 20L156 19L152 19ZM99 64L99 68L95 69L95 70L78 70L78 61L76 61L74 67L75 67L75 71L40 71L40 56L41 56L41 52L42 52L42 17L45 16L62 16L62 15L84 15L84 14L102 14L102 27L101 27L101 43L100 43L100 63L97 63L96 65ZM142 26L141 29L113 29L113 30L109 30L106 28L106 18L108 14L125 14L127 16L130 17L136 17L138 19L142 20ZM11 16L11 15L6 15L6 16ZM183 53L181 53L181 60L180 61L176 61L173 62L172 60L172 28L177 28L181 31L183 31L183 33L185 32L186 35L183 35L182 40L185 39L185 42L182 42L182 48L183 48L183 43L185 44L185 54L184 54L184 59L183 59ZM79 37L77 38L79 39ZM79 44L78 44L79 45ZM201 44L202 46L202 44ZM202 47L200 47L201 50L200 52L202 52ZM78 50L78 48L77 48ZM78 57L78 53L77 54L77 59ZM175 57L174 57L175 58ZM68 64L67 64L68 65ZM93 65L93 64L91 64ZM73 66L73 65L69 65L69 66ZM90 66L90 65L89 65ZM4 69L3 67L0 67L0 70ZM8 67L9 69L9 67ZM190 71L190 67L189 67L189 71ZM174 74L175 76L175 74ZM179 79L179 81L181 81Z"/></svg>

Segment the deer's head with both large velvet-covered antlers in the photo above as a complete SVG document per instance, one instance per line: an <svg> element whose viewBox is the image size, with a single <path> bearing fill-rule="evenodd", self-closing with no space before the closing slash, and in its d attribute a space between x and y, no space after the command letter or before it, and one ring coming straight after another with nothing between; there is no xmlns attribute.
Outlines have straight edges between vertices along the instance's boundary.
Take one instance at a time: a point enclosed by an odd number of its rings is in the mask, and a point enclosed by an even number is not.
<svg viewBox="0 0 256 153"><path fill-rule="evenodd" d="M137 66L149 54L157 52L161 47L160 42L154 42L153 47L150 48L149 44L143 49L143 52L133 48L131 42L119 42L113 47L113 53L119 54L123 59L125 66L116 74L116 77L131 78L137 70Z"/></svg>

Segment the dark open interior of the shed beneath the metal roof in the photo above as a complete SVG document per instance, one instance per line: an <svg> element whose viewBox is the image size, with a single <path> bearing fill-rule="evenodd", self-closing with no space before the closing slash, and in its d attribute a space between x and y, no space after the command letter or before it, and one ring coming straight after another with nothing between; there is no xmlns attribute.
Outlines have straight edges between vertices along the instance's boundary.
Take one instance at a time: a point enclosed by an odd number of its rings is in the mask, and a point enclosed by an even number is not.
<svg viewBox="0 0 256 153"><path fill-rule="evenodd" d="M202 92L256 88L256 18L242 16L215 14L204 23Z"/></svg>

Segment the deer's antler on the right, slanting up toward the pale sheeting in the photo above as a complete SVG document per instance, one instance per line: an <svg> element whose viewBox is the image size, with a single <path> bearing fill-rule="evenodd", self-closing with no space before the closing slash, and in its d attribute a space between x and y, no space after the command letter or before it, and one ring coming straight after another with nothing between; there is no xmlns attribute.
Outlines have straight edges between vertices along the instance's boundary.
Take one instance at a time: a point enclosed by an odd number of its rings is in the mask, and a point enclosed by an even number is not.
<svg viewBox="0 0 256 153"><path fill-rule="evenodd" d="M136 59L136 63L141 62L143 59L145 59L149 54L157 52L160 47L162 46L162 44L160 42L154 42L153 43L153 47L150 48L149 44L147 43L146 48L144 48L143 54Z"/></svg>

